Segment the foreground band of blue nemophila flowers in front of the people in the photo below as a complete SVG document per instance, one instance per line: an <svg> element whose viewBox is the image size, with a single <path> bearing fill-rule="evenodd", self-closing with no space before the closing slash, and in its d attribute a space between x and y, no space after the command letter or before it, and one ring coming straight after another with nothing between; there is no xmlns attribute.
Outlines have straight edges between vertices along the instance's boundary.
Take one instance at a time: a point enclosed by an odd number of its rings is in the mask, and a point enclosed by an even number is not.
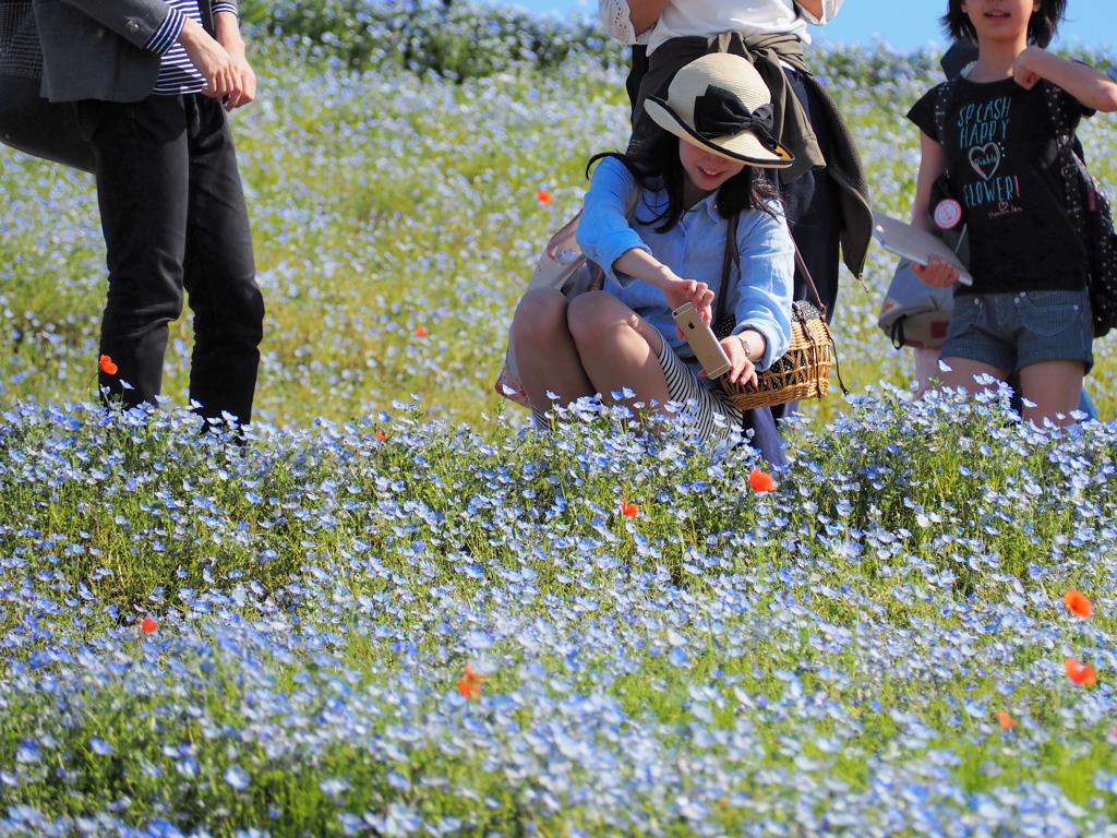
<svg viewBox="0 0 1117 838"><path fill-rule="evenodd" d="M1114 427L1006 411L872 392L756 492L592 404L11 410L0 835L1105 834Z"/></svg>

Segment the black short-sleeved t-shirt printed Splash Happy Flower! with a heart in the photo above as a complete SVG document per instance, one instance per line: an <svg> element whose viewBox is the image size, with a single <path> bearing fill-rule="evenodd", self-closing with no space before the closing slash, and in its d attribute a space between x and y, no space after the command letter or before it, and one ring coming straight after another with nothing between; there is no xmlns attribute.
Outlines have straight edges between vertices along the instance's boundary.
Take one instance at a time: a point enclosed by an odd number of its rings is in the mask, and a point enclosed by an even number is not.
<svg viewBox="0 0 1117 838"><path fill-rule="evenodd" d="M960 294L1080 291L1086 248L1063 208L1058 173L1043 166L1054 127L1046 97L1071 125L1092 113L1073 96L1041 80L1027 91L1012 78L946 83L943 135L935 125L936 87L908 118L939 142L951 191L970 227L971 287ZM934 208L932 208L934 209Z"/></svg>

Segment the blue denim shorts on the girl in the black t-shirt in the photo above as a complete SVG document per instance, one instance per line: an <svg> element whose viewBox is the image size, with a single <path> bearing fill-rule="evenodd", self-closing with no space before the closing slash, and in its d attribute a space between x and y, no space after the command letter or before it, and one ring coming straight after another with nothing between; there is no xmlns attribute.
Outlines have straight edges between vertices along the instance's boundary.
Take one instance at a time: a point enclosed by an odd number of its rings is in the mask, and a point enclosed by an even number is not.
<svg viewBox="0 0 1117 838"><path fill-rule="evenodd" d="M939 358L965 358L1005 372L1043 361L1094 366L1087 291L960 294Z"/></svg>

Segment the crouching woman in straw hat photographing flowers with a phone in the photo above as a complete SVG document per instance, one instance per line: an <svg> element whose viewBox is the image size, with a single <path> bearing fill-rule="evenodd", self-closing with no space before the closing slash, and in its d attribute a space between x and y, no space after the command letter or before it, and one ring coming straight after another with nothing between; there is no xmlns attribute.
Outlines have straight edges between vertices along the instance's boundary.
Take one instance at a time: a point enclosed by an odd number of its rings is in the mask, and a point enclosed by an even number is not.
<svg viewBox="0 0 1117 838"><path fill-rule="evenodd" d="M783 464L771 411L734 407L671 317L691 303L710 323L714 299L725 297L714 331L734 383L755 383L791 341L794 244L760 169L793 158L772 137L767 87L744 58L715 54L680 69L667 99L646 106L669 133L590 160L600 163L577 241L604 270L604 288L571 301L541 288L516 310L512 340L532 411L545 427L551 394L565 404L601 393L665 415L668 402L689 403L704 438L725 438L736 423ZM737 259L726 248L733 230Z"/></svg>

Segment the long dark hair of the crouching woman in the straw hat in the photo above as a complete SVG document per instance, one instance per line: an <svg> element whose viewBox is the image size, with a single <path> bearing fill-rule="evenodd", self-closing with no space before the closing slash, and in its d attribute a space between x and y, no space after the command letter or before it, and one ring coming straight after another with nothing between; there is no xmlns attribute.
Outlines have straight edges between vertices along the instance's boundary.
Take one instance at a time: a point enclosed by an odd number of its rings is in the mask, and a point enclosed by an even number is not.
<svg viewBox="0 0 1117 838"><path fill-rule="evenodd" d="M590 175L593 164L599 160L614 158L624 164L646 190L666 191L667 207L662 212L649 220L642 218L634 220L645 225L659 223L659 227L655 228L656 232L667 232L689 209L682 203L682 182L686 171L682 169L682 161L679 160L680 142L686 141L667 131L659 131L653 139L636 145L627 153L607 151L594 154L585 164L585 174ZM763 169L746 164L739 174L733 175L718 187L715 207L723 218L744 209L757 209L774 217L777 212L773 209L772 202L782 207L773 182Z"/></svg>

